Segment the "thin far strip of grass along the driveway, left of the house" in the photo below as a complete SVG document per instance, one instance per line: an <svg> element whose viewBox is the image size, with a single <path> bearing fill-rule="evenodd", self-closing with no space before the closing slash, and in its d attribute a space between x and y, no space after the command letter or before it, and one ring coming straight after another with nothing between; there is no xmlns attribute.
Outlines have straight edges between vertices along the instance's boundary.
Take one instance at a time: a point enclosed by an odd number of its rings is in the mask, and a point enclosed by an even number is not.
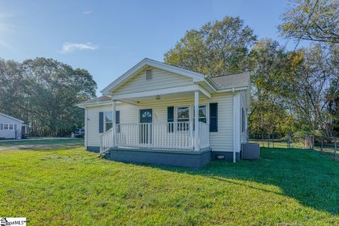
<svg viewBox="0 0 339 226"><path fill-rule="evenodd" d="M41 140L19 140L19 141L0 141L0 147L13 145L40 145L40 144L59 144L59 143L83 143L83 138L73 139L41 139Z"/></svg>

